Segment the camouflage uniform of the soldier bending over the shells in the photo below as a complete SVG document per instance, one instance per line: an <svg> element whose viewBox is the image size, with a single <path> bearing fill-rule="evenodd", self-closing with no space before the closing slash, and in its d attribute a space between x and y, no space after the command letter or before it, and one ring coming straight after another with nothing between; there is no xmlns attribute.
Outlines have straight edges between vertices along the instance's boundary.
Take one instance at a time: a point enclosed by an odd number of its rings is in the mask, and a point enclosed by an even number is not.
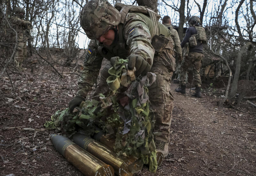
<svg viewBox="0 0 256 176"><path fill-rule="evenodd" d="M104 0L97 0L97 2L99 2L99 4L106 3ZM92 7L89 9L95 9L93 3ZM115 13L115 16L122 14L118 13L118 11L107 11L107 13ZM122 12L122 10L120 12ZM81 14L84 14L84 9ZM88 18L88 16L86 18ZM104 19L104 17L101 19ZM80 21L83 21L82 15L80 16ZM113 21L115 22L115 20ZM102 25L104 24L103 21ZM149 87L151 107L156 111L155 140L168 142L173 109L173 96L170 92L171 82L169 73L175 70L175 59L172 56L173 40L170 31L158 21L156 24L157 26L154 26L153 20L146 14L128 12L127 15L121 15L121 22L118 24L118 34L115 36L115 41L111 46L105 46L95 39L91 40L84 60L84 69L78 81L79 90L77 95L86 97L87 93L92 90L92 85L97 81L103 57L110 60L114 56L119 56L120 58L127 58L131 54L142 56L148 64L152 66L150 72L156 74L156 82ZM87 36L89 38L98 38L100 36L98 31L93 31L94 34L91 34L90 31L88 31L89 28L85 29L88 25L92 26L93 24L84 24L83 26L81 24ZM154 28L158 30L159 34L165 36L165 39L168 41L161 52L155 52L157 49L151 44L153 43ZM160 45L162 45L162 43ZM108 77L108 69L110 67L110 63L108 63L102 70L100 86L96 89L94 95L108 91L106 78Z"/></svg>

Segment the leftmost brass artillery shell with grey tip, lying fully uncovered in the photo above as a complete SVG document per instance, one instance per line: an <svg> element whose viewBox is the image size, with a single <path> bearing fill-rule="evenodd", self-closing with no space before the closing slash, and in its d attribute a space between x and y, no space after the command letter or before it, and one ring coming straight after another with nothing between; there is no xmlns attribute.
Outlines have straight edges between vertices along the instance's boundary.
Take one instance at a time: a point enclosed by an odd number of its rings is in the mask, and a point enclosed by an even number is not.
<svg viewBox="0 0 256 176"><path fill-rule="evenodd" d="M83 150L74 142L60 135L52 135L52 143L71 164L86 176L114 176L112 166Z"/></svg>

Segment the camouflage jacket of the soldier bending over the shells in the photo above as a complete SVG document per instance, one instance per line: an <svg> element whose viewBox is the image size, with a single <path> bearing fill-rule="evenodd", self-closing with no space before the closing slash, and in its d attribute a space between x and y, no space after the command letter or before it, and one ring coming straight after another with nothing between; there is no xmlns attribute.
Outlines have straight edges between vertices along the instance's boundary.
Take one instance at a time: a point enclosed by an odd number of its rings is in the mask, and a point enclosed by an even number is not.
<svg viewBox="0 0 256 176"><path fill-rule="evenodd" d="M158 22L159 34L170 37L171 32ZM97 40L91 40L84 60L84 69L78 80L77 94L84 97L92 90L103 58L119 56L126 59L130 54L139 54L152 66L155 50L151 44L153 38L153 21L149 16L132 12L126 15L124 24L118 25L118 41L105 46Z"/></svg>

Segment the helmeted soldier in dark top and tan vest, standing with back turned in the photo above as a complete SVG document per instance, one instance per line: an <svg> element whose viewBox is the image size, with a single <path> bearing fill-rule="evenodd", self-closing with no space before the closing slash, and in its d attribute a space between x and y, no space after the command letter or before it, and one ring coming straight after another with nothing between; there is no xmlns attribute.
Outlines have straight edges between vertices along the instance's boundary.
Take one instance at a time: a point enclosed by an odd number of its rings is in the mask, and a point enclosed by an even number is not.
<svg viewBox="0 0 256 176"><path fill-rule="evenodd" d="M186 30L184 39L181 42L181 47L185 47L184 59L181 61L181 71L180 71L180 86L175 89L176 92L182 94L186 93L186 73L189 66L193 66L193 77L195 80L196 90L193 96L201 97L201 61L204 57L203 55L203 44L206 42L205 30L201 25L201 21L197 16L191 16L188 19L189 28Z"/></svg>

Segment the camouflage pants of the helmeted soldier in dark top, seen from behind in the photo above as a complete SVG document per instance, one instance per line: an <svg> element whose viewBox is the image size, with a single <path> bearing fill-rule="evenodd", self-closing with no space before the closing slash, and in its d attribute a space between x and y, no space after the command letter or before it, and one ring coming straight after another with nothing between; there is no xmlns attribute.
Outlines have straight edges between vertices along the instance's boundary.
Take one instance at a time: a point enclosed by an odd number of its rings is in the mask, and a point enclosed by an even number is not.
<svg viewBox="0 0 256 176"><path fill-rule="evenodd" d="M201 87L201 77L200 77L200 69L201 69L201 61L204 55L200 52L189 52L188 56L186 56L181 61L181 70L180 70L180 81L181 85L186 84L186 73L188 68L193 66L193 77L195 80L195 86Z"/></svg>

